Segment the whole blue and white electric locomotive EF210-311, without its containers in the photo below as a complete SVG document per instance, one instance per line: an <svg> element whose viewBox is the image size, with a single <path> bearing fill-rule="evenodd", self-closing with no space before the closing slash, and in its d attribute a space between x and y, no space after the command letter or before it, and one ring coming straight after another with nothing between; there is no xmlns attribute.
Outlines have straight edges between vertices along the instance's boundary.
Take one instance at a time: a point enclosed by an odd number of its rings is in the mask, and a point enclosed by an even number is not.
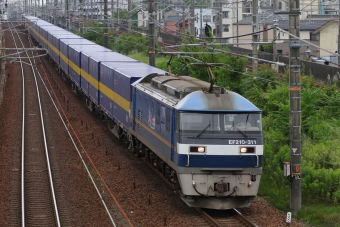
<svg viewBox="0 0 340 227"><path fill-rule="evenodd" d="M262 175L261 110L237 93L188 76L136 82L134 147L177 184L192 207L247 207ZM144 147L144 149L143 149Z"/></svg>

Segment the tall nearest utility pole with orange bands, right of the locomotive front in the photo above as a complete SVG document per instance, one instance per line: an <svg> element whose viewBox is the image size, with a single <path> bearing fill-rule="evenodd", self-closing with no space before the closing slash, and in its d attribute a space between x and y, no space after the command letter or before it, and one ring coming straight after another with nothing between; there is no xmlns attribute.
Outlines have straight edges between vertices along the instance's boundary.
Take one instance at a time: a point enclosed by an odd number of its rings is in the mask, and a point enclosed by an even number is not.
<svg viewBox="0 0 340 227"><path fill-rule="evenodd" d="M300 37L300 0L289 0L289 33ZM289 36L290 96L290 209L301 209L301 82L300 40Z"/></svg>

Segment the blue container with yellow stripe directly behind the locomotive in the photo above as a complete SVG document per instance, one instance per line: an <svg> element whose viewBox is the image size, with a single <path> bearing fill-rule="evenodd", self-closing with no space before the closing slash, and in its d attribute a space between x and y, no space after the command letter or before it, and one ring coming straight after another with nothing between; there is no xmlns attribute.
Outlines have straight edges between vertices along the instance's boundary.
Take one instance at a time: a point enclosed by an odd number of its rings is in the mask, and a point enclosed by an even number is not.
<svg viewBox="0 0 340 227"><path fill-rule="evenodd" d="M142 62L102 62L100 67L101 108L128 130L131 84L149 74L166 72Z"/></svg>

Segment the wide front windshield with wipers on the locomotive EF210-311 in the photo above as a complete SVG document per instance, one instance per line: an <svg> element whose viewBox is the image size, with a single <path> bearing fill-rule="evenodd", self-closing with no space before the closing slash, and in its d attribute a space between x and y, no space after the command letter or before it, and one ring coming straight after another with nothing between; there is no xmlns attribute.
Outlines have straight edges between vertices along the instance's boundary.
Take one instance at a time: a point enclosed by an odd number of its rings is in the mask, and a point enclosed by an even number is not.
<svg viewBox="0 0 340 227"><path fill-rule="evenodd" d="M200 137L233 131L262 131L261 113L179 113L179 132ZM196 133L196 134L195 134Z"/></svg>

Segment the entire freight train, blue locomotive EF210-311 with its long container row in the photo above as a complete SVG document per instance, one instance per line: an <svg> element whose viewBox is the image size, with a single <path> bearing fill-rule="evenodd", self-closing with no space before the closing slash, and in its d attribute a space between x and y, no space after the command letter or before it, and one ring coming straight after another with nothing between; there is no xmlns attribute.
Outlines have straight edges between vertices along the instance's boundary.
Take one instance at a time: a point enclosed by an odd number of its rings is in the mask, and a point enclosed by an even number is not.
<svg viewBox="0 0 340 227"><path fill-rule="evenodd" d="M173 183L186 204L251 204L262 175L259 108L237 93L173 76L39 18L22 20L88 108Z"/></svg>

